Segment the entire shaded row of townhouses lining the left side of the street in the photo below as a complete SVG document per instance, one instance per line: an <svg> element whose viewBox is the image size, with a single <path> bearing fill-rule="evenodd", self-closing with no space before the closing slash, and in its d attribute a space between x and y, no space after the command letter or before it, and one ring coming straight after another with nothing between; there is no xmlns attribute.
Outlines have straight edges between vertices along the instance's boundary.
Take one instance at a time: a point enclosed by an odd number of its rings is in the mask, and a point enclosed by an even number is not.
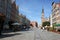
<svg viewBox="0 0 60 40"><path fill-rule="evenodd" d="M12 28L12 23L30 26L30 20L25 15L19 15L16 0L0 0L0 18L4 19L4 28Z"/></svg>

